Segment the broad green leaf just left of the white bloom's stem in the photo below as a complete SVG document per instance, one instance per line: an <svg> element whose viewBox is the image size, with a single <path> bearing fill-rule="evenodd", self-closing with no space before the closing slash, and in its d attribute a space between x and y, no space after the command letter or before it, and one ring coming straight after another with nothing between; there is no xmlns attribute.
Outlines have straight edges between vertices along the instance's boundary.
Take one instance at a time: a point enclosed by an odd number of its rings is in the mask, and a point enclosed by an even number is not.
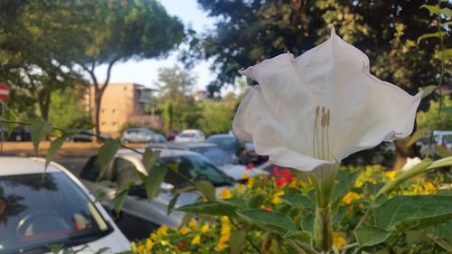
<svg viewBox="0 0 452 254"><path fill-rule="evenodd" d="M296 231L294 221L286 214L279 212L269 212L267 210L244 210L238 211L240 218L259 226L264 230L286 234L288 231Z"/></svg>

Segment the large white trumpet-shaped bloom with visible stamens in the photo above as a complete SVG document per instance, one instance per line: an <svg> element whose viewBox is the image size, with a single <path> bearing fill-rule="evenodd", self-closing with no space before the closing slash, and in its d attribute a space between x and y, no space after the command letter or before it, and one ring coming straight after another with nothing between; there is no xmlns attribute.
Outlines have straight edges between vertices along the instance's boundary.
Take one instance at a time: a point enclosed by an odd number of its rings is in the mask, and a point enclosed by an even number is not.
<svg viewBox="0 0 452 254"><path fill-rule="evenodd" d="M409 136L421 99L372 76L367 56L334 29L295 59L287 52L240 73L259 85L240 103L235 135L274 164L303 171Z"/></svg>

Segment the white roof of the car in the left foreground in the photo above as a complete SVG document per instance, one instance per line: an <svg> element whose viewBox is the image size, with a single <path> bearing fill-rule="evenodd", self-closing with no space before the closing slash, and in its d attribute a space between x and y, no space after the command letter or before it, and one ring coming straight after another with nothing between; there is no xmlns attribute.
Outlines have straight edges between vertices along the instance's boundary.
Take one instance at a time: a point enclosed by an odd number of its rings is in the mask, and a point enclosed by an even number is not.
<svg viewBox="0 0 452 254"><path fill-rule="evenodd" d="M35 157L0 157L0 175L15 175L15 174L42 174L44 173L45 160ZM45 172L61 172L60 165L51 163Z"/></svg>

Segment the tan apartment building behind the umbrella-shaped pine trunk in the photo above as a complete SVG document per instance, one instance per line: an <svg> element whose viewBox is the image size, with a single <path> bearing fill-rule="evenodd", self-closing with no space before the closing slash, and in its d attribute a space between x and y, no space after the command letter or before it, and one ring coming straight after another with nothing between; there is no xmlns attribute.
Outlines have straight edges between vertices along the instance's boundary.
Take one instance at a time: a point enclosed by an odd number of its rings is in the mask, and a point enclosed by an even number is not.
<svg viewBox="0 0 452 254"><path fill-rule="evenodd" d="M127 124L143 127L163 127L163 121L153 114L153 89L135 83L111 83L102 96L99 112L100 132L121 136ZM89 108L94 116L94 87L90 87Z"/></svg>

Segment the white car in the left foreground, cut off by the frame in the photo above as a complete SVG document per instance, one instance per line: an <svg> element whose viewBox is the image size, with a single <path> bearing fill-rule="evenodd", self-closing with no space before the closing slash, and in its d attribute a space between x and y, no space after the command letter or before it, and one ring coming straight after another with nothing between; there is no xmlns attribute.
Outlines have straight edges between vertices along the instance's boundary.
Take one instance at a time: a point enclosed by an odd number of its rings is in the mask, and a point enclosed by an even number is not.
<svg viewBox="0 0 452 254"><path fill-rule="evenodd" d="M49 245L92 253L130 249L122 234L75 176L44 160L0 157L0 253L48 253Z"/></svg>

